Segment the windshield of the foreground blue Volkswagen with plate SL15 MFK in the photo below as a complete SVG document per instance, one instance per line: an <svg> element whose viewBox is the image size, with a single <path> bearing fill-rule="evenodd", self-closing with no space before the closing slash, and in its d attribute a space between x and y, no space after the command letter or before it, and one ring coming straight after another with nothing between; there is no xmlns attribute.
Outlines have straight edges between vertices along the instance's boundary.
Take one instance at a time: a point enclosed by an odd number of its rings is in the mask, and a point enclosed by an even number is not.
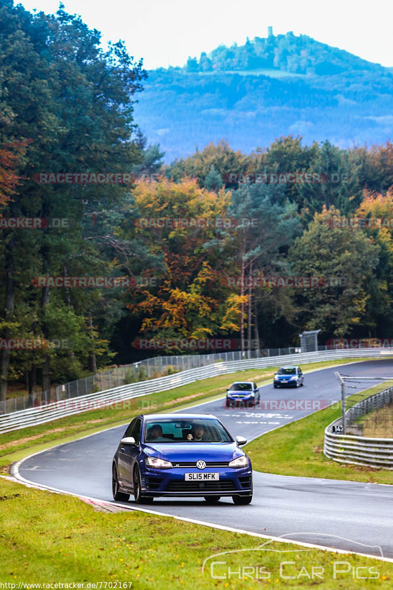
<svg viewBox="0 0 393 590"><path fill-rule="evenodd" d="M146 421L144 442L232 442L232 439L218 420L173 418Z"/></svg>

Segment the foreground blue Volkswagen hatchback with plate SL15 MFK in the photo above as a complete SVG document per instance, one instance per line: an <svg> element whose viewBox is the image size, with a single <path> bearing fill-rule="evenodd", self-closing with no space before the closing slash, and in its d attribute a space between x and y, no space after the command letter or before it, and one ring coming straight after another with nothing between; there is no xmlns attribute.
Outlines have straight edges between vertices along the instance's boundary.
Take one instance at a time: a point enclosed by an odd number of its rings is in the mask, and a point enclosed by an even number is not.
<svg viewBox="0 0 393 590"><path fill-rule="evenodd" d="M154 497L203 497L214 504L232 496L252 500L252 466L239 448L246 439L230 435L211 414L147 414L133 419L113 458L115 500L151 504Z"/></svg>

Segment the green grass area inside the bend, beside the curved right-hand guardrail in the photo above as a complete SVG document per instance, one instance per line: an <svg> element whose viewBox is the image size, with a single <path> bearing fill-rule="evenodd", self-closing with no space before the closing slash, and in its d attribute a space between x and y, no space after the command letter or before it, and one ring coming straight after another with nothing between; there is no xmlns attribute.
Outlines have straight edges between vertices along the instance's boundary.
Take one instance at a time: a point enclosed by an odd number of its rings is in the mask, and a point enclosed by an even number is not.
<svg viewBox="0 0 393 590"><path fill-rule="evenodd" d="M385 387L385 383L379 383L362 392L362 395L355 394L346 399L358 402ZM341 408L325 408L256 438L244 447L252 460L253 469L283 476L393 484L393 471L336 463L325 457L325 428L340 417Z"/></svg>

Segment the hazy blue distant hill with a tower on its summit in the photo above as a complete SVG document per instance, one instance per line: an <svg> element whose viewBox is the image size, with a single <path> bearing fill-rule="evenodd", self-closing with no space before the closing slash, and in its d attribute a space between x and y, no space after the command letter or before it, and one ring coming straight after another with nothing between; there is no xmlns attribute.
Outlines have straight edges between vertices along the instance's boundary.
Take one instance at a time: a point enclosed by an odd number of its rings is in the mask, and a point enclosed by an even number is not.
<svg viewBox="0 0 393 590"><path fill-rule="evenodd" d="M290 134L342 148L393 138L392 68L290 32L150 71L138 100L166 162L223 138L246 153Z"/></svg>

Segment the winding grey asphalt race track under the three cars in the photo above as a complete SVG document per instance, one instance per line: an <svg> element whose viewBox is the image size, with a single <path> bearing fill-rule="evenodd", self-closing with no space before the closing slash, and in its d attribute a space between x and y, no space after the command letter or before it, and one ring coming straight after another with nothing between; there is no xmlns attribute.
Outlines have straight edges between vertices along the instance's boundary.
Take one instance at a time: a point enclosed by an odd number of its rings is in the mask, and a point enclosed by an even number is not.
<svg viewBox="0 0 393 590"><path fill-rule="evenodd" d="M261 400L298 400L300 409L230 409L220 399L187 411L214 414L233 435L252 440L311 413L301 409L302 400L318 400L323 407L325 401L340 399L335 370L306 374L305 386L298 389L274 389L272 385L260 388ZM393 360L353 363L339 371L345 375L391 376ZM231 375L228 383L230 380ZM358 391L371 384L351 383ZM348 388L348 395L354 392ZM43 486L112 501L111 461L125 430L125 426L112 428L27 458L19 466L19 474ZM223 498L216 506L208 506L203 499L155 499L148 509L359 553L380 556L382 550L385 558L393 558L393 486L254 472L254 496L249 506L235 506L231 498ZM259 544L256 539L255 546Z"/></svg>

